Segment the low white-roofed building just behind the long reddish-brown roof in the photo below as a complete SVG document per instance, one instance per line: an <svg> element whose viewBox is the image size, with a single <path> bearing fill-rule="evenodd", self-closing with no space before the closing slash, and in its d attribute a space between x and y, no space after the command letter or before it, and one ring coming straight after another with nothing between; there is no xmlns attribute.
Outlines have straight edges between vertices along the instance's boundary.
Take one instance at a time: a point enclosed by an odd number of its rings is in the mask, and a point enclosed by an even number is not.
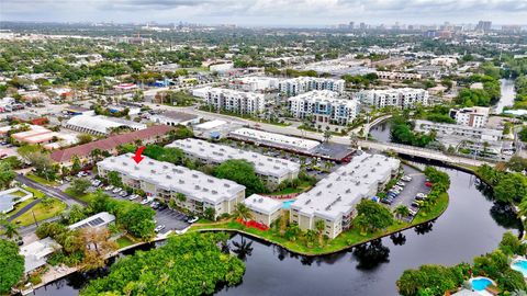
<svg viewBox="0 0 527 296"><path fill-rule="evenodd" d="M145 129L146 124L104 115L77 115L71 117L65 127L80 133L105 136L111 134L115 128L128 128L132 130Z"/></svg>

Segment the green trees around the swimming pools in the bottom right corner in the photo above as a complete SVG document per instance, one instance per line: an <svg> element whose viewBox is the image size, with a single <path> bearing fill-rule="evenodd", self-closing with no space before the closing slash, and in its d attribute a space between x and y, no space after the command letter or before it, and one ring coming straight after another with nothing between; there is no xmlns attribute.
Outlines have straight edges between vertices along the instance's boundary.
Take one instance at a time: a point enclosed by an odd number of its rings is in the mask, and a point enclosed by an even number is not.
<svg viewBox="0 0 527 296"><path fill-rule="evenodd" d="M496 250L476 257L473 263L460 263L453 266L437 264L422 265L417 270L406 270L397 281L399 293L403 296L446 295L458 291L462 285L471 289L468 280L485 276L494 280L497 286L491 287L500 295L527 289L520 272L509 266L512 257L525 255L526 244L512 232L505 232Z"/></svg>

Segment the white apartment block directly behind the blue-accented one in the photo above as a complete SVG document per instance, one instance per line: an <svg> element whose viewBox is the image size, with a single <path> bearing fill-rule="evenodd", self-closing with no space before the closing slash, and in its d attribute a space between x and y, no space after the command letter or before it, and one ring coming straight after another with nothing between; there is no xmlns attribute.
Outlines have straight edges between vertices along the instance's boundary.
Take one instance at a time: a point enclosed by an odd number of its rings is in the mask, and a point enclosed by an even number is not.
<svg viewBox="0 0 527 296"><path fill-rule="evenodd" d="M343 79L298 77L280 82L280 92L288 96L298 95L312 90L330 90L338 93L344 92L345 82Z"/></svg>

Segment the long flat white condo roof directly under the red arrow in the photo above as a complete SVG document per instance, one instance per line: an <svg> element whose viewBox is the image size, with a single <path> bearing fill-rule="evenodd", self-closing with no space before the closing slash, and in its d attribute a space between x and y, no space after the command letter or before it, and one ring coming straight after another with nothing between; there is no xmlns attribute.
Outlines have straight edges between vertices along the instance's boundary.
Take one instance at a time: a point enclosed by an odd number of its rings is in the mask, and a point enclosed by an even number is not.
<svg viewBox="0 0 527 296"><path fill-rule="evenodd" d="M233 181L214 178L200 171L148 157L136 164L132 157L132 153L109 157L98 162L97 166L106 171L116 171L134 180L146 181L157 187L183 193L194 200L213 204L231 201L245 190L245 186Z"/></svg>

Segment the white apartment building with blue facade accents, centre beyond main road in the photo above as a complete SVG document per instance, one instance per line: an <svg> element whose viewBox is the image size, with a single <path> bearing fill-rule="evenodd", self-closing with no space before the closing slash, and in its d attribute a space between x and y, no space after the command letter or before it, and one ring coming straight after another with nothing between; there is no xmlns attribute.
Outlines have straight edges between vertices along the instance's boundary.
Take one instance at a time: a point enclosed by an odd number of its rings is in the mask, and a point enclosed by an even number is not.
<svg viewBox="0 0 527 296"><path fill-rule="evenodd" d="M347 125L357 117L359 104L334 91L310 91L290 98L289 111L296 118L313 116L319 123Z"/></svg>

